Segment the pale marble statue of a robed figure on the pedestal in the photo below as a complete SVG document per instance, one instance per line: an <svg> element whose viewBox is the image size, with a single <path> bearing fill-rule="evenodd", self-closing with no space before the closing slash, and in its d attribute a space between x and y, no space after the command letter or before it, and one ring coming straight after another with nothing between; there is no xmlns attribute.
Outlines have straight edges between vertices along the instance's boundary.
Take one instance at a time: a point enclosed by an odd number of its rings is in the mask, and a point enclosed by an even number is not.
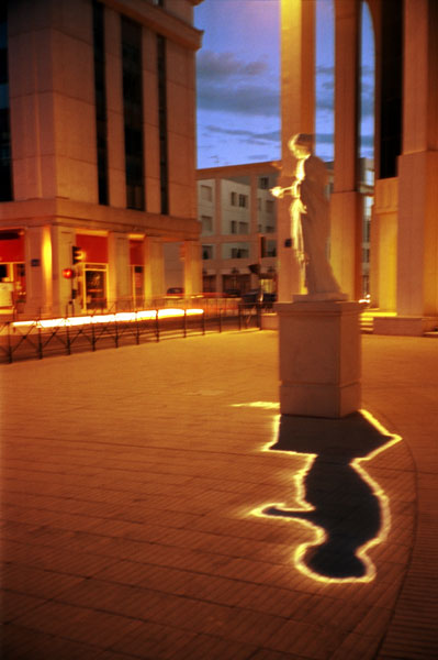
<svg viewBox="0 0 438 660"><path fill-rule="evenodd" d="M325 196L326 168L313 154L313 138L294 135L288 144L296 158L295 178L291 186L271 189L274 197L291 195L291 237L293 248L304 271L307 296L294 299L345 300L327 258L329 210Z"/></svg>

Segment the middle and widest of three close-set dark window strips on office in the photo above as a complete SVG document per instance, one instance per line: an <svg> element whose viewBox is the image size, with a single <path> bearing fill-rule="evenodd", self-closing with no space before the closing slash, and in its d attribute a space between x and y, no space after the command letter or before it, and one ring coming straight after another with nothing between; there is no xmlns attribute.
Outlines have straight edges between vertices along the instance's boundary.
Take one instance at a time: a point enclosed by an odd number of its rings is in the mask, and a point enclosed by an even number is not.
<svg viewBox="0 0 438 660"><path fill-rule="evenodd" d="M122 16L126 207L145 209L143 165L142 28Z"/></svg>

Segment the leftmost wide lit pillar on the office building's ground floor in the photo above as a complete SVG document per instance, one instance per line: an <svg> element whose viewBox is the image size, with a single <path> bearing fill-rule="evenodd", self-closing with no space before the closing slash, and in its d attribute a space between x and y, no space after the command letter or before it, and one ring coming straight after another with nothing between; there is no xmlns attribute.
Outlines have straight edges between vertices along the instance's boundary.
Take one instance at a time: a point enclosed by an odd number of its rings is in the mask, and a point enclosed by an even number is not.
<svg viewBox="0 0 438 660"><path fill-rule="evenodd" d="M31 318L52 315L52 237L49 227L30 227L25 233L26 304Z"/></svg>

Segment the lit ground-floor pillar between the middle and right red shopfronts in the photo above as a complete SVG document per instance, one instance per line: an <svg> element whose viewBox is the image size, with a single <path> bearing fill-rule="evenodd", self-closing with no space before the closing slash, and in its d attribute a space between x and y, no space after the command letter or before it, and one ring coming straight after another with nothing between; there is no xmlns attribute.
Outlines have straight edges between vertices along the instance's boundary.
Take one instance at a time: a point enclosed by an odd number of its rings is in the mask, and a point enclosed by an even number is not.
<svg viewBox="0 0 438 660"><path fill-rule="evenodd" d="M111 232L108 237L109 256L109 307L128 309L132 300L130 266L130 238L127 234Z"/></svg>

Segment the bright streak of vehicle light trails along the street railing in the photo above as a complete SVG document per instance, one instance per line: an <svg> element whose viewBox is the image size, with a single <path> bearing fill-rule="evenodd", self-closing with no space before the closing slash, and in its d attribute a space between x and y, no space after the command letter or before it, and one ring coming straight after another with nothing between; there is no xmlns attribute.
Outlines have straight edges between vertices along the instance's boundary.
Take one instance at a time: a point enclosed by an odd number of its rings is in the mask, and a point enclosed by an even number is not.
<svg viewBox="0 0 438 660"><path fill-rule="evenodd" d="M142 311L119 311L116 314L97 314L93 316L83 317L66 317L58 319L40 319L34 321L14 321L12 327L24 328L35 326L35 328L65 328L74 326L89 326L91 323L115 323L130 321L146 321L157 318L178 318L187 316L202 316L203 309L144 309Z"/></svg>

